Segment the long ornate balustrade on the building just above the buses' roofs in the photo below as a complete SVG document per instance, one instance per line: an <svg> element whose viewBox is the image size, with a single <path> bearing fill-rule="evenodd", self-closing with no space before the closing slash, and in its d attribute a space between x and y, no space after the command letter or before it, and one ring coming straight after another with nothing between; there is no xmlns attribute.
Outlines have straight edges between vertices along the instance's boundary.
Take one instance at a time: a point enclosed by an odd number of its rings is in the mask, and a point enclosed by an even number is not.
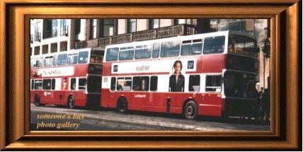
<svg viewBox="0 0 303 152"><path fill-rule="evenodd" d="M193 35L193 34L196 34L194 25L188 25L188 24L173 25L164 28L143 30L135 33L127 33L127 34L115 35L110 37L102 37L98 39L98 44L95 47L105 47L106 45L114 45L114 44L120 44L125 42L154 40L164 37L173 37L178 35ZM76 49L82 48L80 46L86 47L86 45L81 45L81 43L86 43L86 41L76 42Z"/></svg>

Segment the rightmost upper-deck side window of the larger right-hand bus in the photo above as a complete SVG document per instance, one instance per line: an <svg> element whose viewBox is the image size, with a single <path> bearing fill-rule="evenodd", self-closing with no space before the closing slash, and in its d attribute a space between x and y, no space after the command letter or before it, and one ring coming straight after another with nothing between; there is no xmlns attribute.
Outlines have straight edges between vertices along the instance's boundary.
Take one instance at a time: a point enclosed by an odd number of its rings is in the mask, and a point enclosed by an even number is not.
<svg viewBox="0 0 303 152"><path fill-rule="evenodd" d="M206 37L204 40L204 54L217 54L224 52L225 37Z"/></svg>

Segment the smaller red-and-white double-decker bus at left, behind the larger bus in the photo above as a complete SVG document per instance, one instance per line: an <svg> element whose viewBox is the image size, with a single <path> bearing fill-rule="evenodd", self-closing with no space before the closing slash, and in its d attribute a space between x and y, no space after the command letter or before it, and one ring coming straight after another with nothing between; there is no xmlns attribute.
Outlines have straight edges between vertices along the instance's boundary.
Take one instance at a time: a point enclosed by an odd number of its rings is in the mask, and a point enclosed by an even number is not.
<svg viewBox="0 0 303 152"><path fill-rule="evenodd" d="M30 58L30 102L100 105L103 51L74 49Z"/></svg>

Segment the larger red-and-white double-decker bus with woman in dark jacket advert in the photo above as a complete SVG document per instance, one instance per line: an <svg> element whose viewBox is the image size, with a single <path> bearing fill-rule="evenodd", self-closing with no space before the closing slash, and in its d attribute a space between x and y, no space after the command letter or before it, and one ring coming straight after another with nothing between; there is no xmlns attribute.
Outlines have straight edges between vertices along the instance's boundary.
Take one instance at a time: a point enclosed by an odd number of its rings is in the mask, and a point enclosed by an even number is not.
<svg viewBox="0 0 303 152"><path fill-rule="evenodd" d="M256 100L257 57L256 39L232 31L108 45L101 107L187 119L246 114Z"/></svg>

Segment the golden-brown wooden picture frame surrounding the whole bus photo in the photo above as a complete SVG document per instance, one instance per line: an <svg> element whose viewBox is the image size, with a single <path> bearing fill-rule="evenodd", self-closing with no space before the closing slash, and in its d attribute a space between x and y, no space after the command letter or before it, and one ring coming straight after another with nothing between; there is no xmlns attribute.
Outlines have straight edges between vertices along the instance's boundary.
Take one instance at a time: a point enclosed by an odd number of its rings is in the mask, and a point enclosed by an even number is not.
<svg viewBox="0 0 303 152"><path fill-rule="evenodd" d="M15 1L0 4L0 149L298 149L301 1ZM270 131L30 131L30 18L270 18Z"/></svg>

